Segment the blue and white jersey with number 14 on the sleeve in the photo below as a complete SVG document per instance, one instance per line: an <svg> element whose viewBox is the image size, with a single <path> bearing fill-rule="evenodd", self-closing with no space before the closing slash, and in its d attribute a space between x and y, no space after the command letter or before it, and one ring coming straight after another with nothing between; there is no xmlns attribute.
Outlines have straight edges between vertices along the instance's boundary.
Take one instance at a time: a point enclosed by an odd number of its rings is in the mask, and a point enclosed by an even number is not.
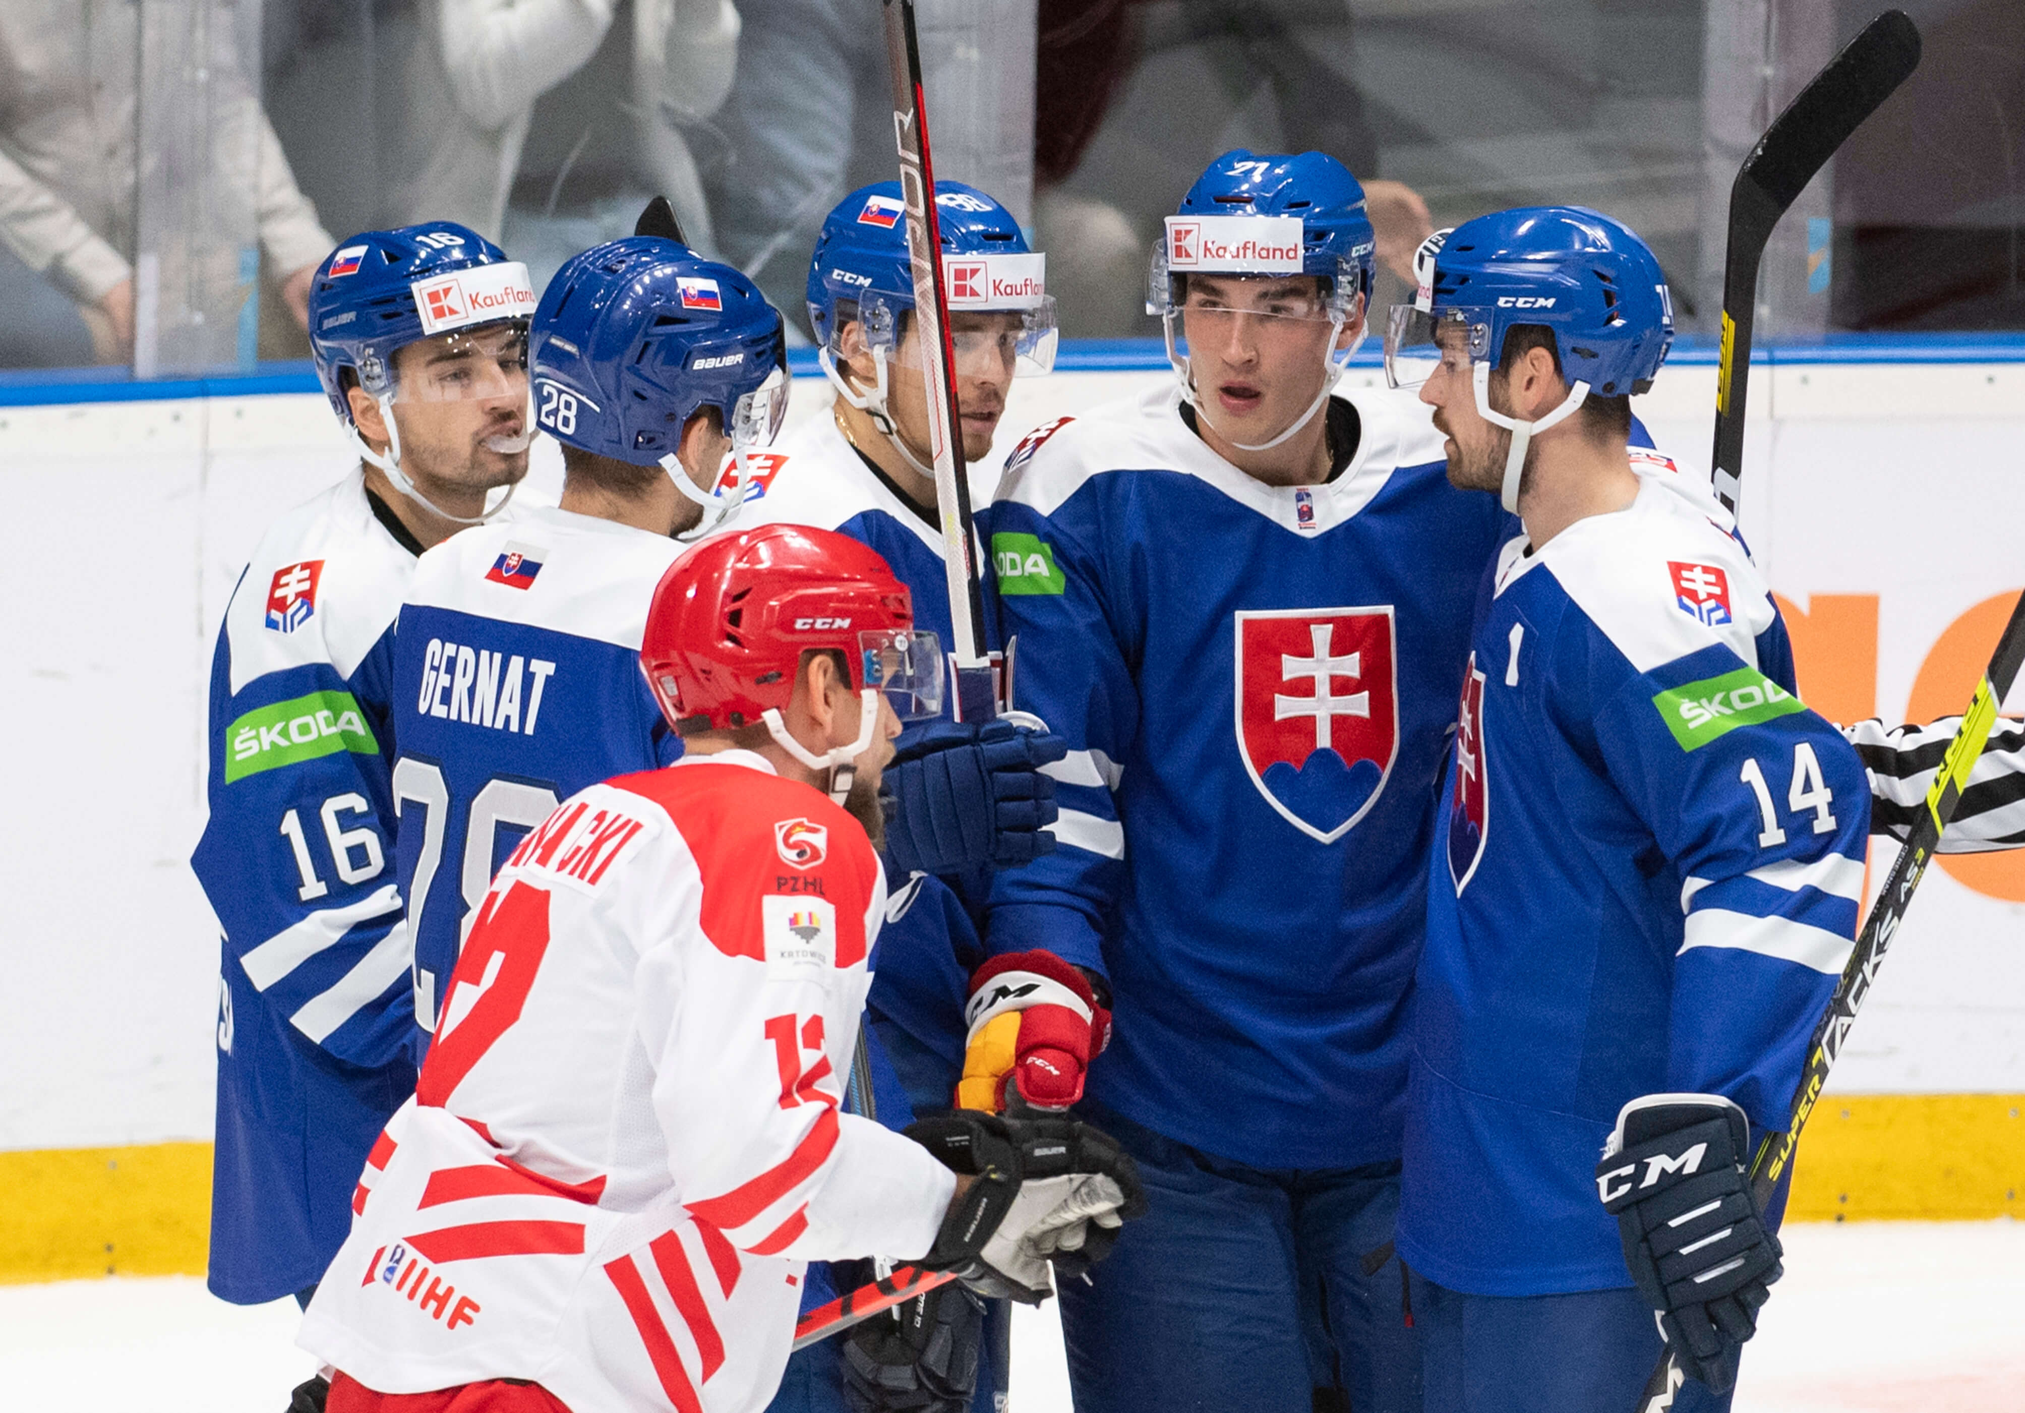
<svg viewBox="0 0 2025 1413"><path fill-rule="evenodd" d="M1764 579L1689 498L1646 478L1537 553L1509 541L1428 875L1401 1259L1482 1296L1630 1285L1604 1138L1660 1091L1784 1126L1869 806Z"/></svg>

